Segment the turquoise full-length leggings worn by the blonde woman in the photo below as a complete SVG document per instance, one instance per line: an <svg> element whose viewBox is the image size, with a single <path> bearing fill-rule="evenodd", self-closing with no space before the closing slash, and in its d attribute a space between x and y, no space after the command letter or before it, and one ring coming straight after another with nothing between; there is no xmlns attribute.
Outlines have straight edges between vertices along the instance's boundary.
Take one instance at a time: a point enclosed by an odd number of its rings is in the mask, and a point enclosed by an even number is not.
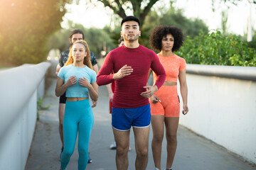
<svg viewBox="0 0 256 170"><path fill-rule="evenodd" d="M75 149L78 135L78 170L85 170L88 162L88 146L93 126L92 106L89 99L66 101L63 119L64 149L60 157L61 169L65 169Z"/></svg>

